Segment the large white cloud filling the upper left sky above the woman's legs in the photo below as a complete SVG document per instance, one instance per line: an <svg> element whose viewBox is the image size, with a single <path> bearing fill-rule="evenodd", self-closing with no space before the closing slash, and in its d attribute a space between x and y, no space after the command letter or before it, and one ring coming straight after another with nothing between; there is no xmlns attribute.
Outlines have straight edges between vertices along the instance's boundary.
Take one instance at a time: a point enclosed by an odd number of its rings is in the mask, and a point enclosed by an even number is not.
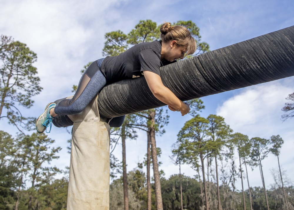
<svg viewBox="0 0 294 210"><path fill-rule="evenodd" d="M44 90L34 97L36 106L44 109L44 101L72 94L71 87L78 83L83 66L102 57L104 34L111 27L106 20L116 18L116 13L109 12L123 2L4 2L0 9L1 34L26 43L38 56L34 66Z"/></svg>

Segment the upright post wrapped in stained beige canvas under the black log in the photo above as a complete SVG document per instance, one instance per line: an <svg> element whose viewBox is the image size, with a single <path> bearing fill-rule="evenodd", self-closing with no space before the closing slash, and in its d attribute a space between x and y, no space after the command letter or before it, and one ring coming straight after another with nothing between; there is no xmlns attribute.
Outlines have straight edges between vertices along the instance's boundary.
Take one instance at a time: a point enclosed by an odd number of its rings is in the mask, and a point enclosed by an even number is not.
<svg viewBox="0 0 294 210"><path fill-rule="evenodd" d="M108 210L110 127L100 122L97 97L74 122L71 139L68 210Z"/></svg>

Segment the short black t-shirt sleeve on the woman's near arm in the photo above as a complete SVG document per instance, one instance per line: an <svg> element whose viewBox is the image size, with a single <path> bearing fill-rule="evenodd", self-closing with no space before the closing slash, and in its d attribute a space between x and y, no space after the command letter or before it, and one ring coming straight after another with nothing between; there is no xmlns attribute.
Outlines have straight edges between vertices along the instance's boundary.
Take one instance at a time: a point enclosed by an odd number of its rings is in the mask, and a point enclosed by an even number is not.
<svg viewBox="0 0 294 210"><path fill-rule="evenodd" d="M138 55L141 71L152 71L160 76L160 59L152 49L141 50Z"/></svg>

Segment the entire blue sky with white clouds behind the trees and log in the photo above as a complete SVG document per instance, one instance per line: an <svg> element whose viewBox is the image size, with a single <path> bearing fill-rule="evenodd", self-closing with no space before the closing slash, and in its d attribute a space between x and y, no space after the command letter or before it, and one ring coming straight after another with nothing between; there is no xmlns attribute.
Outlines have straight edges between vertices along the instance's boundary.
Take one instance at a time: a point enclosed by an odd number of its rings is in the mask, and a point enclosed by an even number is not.
<svg viewBox="0 0 294 210"><path fill-rule="evenodd" d="M35 66L44 88L34 96L34 106L24 110L26 116L38 117L49 101L72 95L71 87L80 79L80 70L89 61L102 57L104 34L114 30L128 33L140 21L151 19L158 24L164 21L192 20L200 28L202 41L210 49L245 41L272 31L294 25L294 1L37 1L0 0L0 33L26 43L37 56ZM294 91L294 78L286 78L234 91L203 97L206 109L201 116L218 114L225 118L234 132L249 138L269 138L280 135L285 143L280 163L289 178L294 177L294 119L282 123L280 116L285 98ZM169 112L170 123L166 133L157 137L157 146L163 153L161 169L168 178L178 173L178 167L169 160L171 145L178 131L191 116ZM16 129L0 121L0 128L10 134ZM60 159L52 162L59 168L69 165L66 140L70 135L64 128L53 128L48 135L61 146ZM127 141L127 169L143 161L146 153L146 134L139 133L136 141ZM121 145L114 151L121 158ZM276 157L269 155L263 162L265 184L273 184L270 169L277 167ZM183 166L182 172L193 177L195 171ZM248 174L252 186L261 186L259 170ZM293 180L292 180L293 181ZM240 188L239 188L240 189Z"/></svg>

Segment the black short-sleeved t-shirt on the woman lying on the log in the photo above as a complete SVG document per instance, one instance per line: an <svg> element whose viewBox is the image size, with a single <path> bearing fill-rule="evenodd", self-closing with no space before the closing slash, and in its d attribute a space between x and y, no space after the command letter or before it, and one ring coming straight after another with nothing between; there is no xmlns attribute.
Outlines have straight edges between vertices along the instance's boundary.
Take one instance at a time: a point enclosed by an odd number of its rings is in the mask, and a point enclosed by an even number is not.
<svg viewBox="0 0 294 210"><path fill-rule="evenodd" d="M114 57L106 57L101 64L101 72L107 84L143 75L152 71L160 76L159 68L173 62L160 61L161 41L136 44L127 51Z"/></svg>

